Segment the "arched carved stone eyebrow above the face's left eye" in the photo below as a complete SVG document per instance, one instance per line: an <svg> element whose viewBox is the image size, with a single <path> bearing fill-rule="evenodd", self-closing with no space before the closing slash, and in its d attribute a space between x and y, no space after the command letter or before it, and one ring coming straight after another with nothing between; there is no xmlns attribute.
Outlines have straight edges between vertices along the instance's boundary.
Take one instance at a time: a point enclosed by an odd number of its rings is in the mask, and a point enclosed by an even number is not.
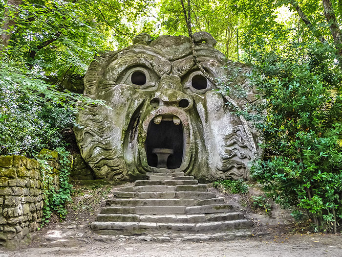
<svg viewBox="0 0 342 257"><path fill-rule="evenodd" d="M115 82L119 76L132 66L145 66L153 70L159 77L171 72L171 63L165 57L155 53L147 47L130 47L117 53L110 60L105 78L109 82ZM149 47L150 48L150 47Z"/></svg>

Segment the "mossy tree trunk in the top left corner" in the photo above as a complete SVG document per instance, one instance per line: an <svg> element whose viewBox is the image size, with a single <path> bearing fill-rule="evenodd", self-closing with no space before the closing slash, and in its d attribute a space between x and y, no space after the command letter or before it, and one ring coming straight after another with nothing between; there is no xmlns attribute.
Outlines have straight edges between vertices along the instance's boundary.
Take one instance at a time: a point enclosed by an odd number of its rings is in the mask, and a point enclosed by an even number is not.
<svg viewBox="0 0 342 257"><path fill-rule="evenodd" d="M19 5L22 0L7 0L7 6L4 12L4 22L1 27L0 51L8 46L11 38L12 29L16 25L19 13Z"/></svg>

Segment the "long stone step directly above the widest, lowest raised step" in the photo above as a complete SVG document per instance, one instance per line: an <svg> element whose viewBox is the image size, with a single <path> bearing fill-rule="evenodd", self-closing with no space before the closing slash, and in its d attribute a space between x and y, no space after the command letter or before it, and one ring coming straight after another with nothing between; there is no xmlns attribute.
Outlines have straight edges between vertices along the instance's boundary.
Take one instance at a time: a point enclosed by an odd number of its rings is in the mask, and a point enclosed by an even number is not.
<svg viewBox="0 0 342 257"><path fill-rule="evenodd" d="M202 223L244 219L241 212L213 214L99 214L96 221L108 222L156 222L156 223Z"/></svg>

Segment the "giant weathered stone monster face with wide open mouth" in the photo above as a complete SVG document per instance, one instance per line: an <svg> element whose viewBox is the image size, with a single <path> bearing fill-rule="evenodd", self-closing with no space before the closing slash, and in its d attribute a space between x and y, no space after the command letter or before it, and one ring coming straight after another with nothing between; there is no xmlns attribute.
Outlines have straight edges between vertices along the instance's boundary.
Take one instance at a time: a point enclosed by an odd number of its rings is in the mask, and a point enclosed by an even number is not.
<svg viewBox="0 0 342 257"><path fill-rule="evenodd" d="M227 76L213 37L193 37L203 68L214 78ZM214 91L194 64L189 38L149 40L140 34L133 46L101 54L85 75L85 95L106 103L83 106L75 128L95 176L133 180L171 170L202 181L248 178L260 152L257 133L230 109L243 109L244 100ZM238 83L252 99L246 80Z"/></svg>

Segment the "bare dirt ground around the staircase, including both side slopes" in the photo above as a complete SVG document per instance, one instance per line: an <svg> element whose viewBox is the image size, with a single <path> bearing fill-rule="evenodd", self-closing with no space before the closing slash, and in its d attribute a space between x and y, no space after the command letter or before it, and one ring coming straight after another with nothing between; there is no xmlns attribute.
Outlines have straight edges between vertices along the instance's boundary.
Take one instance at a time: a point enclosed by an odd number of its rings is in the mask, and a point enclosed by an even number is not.
<svg viewBox="0 0 342 257"><path fill-rule="evenodd" d="M76 187L69 214L63 222L51 219L50 224L32 234L28 244L12 251L0 249L0 257L342 256L341 234L311 234L296 227L286 210L276 207L271 215L253 212L248 206L238 204L246 201L240 199L240 195L221 196L226 202L235 203L237 210L245 211L246 216L255 221L254 236L223 240L216 234L216 239L208 240L210 235L206 234L203 240L199 237L196 241L181 241L172 239L171 234L160 234L159 237L147 234L98 235L89 229L89 224L105 204L105 199L110 197L111 188Z"/></svg>

